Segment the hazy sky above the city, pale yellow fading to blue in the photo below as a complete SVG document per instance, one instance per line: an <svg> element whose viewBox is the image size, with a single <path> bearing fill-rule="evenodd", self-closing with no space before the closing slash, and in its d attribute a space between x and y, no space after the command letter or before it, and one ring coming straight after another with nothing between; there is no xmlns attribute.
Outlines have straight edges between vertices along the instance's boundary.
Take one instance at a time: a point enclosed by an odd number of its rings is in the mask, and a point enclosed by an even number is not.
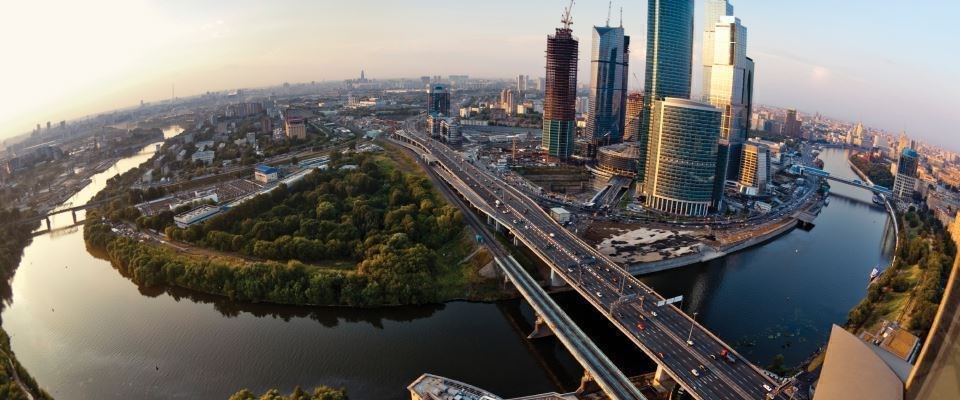
<svg viewBox="0 0 960 400"><path fill-rule="evenodd" d="M542 76L565 0L61 0L0 5L0 138L37 122L284 81ZM957 0L735 0L758 103L820 111L960 150ZM643 79L646 1L614 2ZM703 1L696 1L700 92ZM581 81L607 1L580 0ZM639 83L631 80L631 86Z"/></svg>

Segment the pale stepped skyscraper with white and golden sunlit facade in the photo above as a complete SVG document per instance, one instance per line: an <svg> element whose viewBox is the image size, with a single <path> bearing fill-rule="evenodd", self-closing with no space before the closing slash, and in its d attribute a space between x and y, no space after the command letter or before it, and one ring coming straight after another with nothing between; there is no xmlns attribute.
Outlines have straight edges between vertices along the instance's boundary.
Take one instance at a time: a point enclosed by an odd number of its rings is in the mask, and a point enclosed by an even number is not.
<svg viewBox="0 0 960 400"><path fill-rule="evenodd" d="M726 1L707 1L707 14L722 9L721 3ZM713 42L707 42L709 38ZM720 16L713 27L704 30L703 40L704 56L713 56L711 65L704 67L704 84L709 85L704 86L704 97L723 112L720 137L727 141L729 149L729 154L721 155L727 162L718 172L722 177L737 179L740 163L735 161L747 139L753 111L753 60L747 57L747 28L739 18ZM712 50L707 51L707 47Z"/></svg>

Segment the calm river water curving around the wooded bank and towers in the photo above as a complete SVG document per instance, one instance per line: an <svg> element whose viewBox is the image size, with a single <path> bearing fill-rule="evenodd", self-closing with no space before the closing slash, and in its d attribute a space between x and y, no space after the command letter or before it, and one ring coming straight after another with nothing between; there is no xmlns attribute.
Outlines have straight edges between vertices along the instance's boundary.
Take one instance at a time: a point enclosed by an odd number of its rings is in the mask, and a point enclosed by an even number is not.
<svg viewBox="0 0 960 400"><path fill-rule="evenodd" d="M153 149L98 175L71 202L82 204ZM853 176L843 151L821 158L827 170ZM892 250L885 214L869 194L832 192L811 231L643 279L665 295L684 295L684 309L755 362L779 353L799 362L826 340L831 323L843 322L870 270L889 262ZM69 215L60 218L55 226L69 224ZM244 387L321 384L346 386L356 399L405 399L405 386L423 372L515 396L570 390L581 373L555 339L525 339L531 312L520 301L360 310L144 290L91 254L76 228L34 238L12 293L3 325L13 349L58 399L223 399ZM557 300L626 372L651 370L576 295Z"/></svg>

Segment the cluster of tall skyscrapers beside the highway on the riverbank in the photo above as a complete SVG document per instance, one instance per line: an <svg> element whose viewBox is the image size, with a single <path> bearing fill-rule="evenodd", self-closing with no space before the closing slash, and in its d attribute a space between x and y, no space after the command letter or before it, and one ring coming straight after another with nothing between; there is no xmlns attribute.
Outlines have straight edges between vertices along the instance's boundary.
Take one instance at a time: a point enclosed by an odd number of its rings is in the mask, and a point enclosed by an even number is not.
<svg viewBox="0 0 960 400"><path fill-rule="evenodd" d="M727 0L706 0L706 8L702 102L690 99L693 0L648 0L642 94L627 93L630 38L623 27L608 20L593 29L583 138L594 150L620 142L636 148L616 153L638 155L639 191L648 208L662 212L702 216L720 208L725 181L741 179L743 165L751 181L768 179L762 149L751 148L743 162L754 76L747 29ZM577 101L577 40L566 11L564 26L547 39L543 148L558 159L573 150Z"/></svg>

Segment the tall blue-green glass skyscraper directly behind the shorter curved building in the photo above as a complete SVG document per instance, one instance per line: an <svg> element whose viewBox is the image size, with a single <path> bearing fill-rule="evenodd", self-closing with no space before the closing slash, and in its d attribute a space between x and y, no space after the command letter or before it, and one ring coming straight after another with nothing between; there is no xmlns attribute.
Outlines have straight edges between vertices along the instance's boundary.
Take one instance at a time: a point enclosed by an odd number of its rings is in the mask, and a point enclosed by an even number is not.
<svg viewBox="0 0 960 400"><path fill-rule="evenodd" d="M640 136L641 154L652 154L648 145L653 129L652 109L667 97L690 98L691 62L693 58L693 0L647 0L647 65L643 85L643 114ZM719 125L718 125L719 127ZM714 143L714 145L716 145ZM637 163L647 169L643 158ZM638 176L649 176L641 174Z"/></svg>

